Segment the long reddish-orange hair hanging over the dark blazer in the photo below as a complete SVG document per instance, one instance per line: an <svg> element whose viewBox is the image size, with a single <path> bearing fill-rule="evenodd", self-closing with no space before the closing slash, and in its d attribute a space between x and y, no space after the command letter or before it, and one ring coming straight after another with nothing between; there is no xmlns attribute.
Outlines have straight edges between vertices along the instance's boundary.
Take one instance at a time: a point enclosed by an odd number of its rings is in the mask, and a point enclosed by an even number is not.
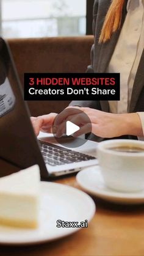
<svg viewBox="0 0 144 256"><path fill-rule="evenodd" d="M105 43L112 33L119 29L125 0L112 0L99 37L99 43Z"/></svg>

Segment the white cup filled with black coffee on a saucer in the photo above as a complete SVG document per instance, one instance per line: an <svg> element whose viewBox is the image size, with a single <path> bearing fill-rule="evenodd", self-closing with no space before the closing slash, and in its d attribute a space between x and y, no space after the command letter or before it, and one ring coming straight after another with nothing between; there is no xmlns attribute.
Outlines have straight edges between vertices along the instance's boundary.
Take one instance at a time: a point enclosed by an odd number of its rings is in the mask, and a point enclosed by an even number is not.
<svg viewBox="0 0 144 256"><path fill-rule="evenodd" d="M100 142L97 155L107 187L123 192L144 189L144 142L128 139Z"/></svg>

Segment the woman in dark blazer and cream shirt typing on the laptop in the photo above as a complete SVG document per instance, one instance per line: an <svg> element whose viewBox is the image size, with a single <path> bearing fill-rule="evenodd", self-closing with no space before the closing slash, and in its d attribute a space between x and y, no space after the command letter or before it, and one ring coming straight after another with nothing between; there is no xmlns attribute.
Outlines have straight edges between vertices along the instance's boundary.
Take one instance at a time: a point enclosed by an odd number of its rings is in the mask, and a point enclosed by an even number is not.
<svg viewBox="0 0 144 256"><path fill-rule="evenodd" d="M73 101L101 137L144 134L144 1L95 0L92 64L88 72L120 72L120 101ZM49 131L56 114L32 118L35 132ZM72 117L73 119L73 117ZM78 123L77 123L78 125ZM59 126L60 127L60 126ZM59 129L57 134L60 135Z"/></svg>

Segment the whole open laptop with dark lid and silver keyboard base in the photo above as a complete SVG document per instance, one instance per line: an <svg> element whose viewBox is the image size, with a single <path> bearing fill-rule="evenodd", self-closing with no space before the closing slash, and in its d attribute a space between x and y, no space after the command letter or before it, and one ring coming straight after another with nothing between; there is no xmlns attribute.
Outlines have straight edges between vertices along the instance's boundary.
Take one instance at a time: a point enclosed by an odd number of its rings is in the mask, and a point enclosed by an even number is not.
<svg viewBox="0 0 144 256"><path fill-rule="evenodd" d="M71 149L70 145L82 138L64 136L63 146L51 135L40 134L37 138L30 116L9 45L0 38L0 159L18 169L38 164L44 179L98 163L96 142L85 140L82 147Z"/></svg>

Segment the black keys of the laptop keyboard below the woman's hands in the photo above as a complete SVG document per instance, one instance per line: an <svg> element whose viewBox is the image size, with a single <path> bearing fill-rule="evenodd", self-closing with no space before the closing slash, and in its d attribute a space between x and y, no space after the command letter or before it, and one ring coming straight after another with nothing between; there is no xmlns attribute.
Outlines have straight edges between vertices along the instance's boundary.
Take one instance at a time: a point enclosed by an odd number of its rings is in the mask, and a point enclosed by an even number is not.
<svg viewBox="0 0 144 256"><path fill-rule="evenodd" d="M50 166L60 166L62 164L78 163L96 159L94 156L59 147L58 145L50 144L48 142L39 142L44 161Z"/></svg>

